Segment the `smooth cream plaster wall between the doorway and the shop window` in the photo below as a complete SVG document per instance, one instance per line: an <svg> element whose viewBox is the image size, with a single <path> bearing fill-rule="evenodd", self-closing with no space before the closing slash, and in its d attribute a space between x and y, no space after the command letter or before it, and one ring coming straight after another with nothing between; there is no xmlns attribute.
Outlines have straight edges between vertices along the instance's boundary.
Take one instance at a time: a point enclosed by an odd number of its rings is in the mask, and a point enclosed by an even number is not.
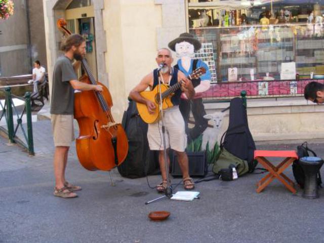
<svg viewBox="0 0 324 243"><path fill-rule="evenodd" d="M120 120L130 90L156 66L156 28L161 25L161 8L153 0L106 0L103 19L112 110Z"/></svg>

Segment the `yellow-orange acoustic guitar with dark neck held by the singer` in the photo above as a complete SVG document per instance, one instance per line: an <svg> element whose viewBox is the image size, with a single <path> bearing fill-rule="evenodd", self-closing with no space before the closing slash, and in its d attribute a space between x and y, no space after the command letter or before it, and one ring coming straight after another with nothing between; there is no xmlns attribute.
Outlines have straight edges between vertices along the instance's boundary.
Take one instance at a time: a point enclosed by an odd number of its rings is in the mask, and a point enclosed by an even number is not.
<svg viewBox="0 0 324 243"><path fill-rule="evenodd" d="M200 77L201 75L206 73L206 69L204 67L199 67L196 70L194 70L189 76L187 76L188 79L195 79ZM178 82L177 84L173 86L169 86L166 84L161 84L161 97L162 97L162 109L168 109L173 106L171 102L171 97L174 95L174 92L176 92L178 89L181 88L181 83ZM136 102L137 110L141 118L145 121L145 123L154 123L160 113L159 109L159 100L160 100L160 93L158 85L155 86L155 88L151 91L143 91L140 93L140 95L152 101L155 104L155 110L154 113L149 113L146 104L142 104L139 102Z"/></svg>

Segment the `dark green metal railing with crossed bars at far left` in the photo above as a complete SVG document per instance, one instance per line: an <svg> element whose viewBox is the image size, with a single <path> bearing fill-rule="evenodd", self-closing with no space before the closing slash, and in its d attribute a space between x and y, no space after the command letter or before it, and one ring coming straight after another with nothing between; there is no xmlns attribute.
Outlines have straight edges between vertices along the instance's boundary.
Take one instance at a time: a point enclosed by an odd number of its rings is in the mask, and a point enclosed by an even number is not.
<svg viewBox="0 0 324 243"><path fill-rule="evenodd" d="M34 155L35 153L34 153L34 143L33 143L33 135L32 135L30 92L26 92L24 97L13 95L11 93L10 87L7 87L5 91L0 89L0 92L4 92L6 97L4 105L0 102L0 105L2 107L2 113L0 114L0 121L3 119L3 117L5 117L6 124L7 124L7 129L5 129L4 127L0 127L0 130L8 136L10 143L17 143L23 146L24 148L26 148L29 155ZM25 102L24 108L20 114L13 102L13 97ZM15 112L17 117L16 127L14 125L13 111ZM26 121L27 121L27 133L22 125L22 118L24 114L26 115ZM21 128L26 142L23 142L16 136L19 128Z"/></svg>

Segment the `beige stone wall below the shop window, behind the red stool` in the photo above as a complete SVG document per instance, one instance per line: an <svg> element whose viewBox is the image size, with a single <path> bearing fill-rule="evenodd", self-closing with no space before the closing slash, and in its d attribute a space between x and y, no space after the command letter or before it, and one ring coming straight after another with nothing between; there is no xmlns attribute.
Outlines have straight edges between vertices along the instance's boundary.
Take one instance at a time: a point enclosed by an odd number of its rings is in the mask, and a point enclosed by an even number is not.
<svg viewBox="0 0 324 243"><path fill-rule="evenodd" d="M323 139L324 106L304 97L248 99L249 128L255 141ZM207 113L220 112L229 103L207 103ZM228 128L225 112L220 136Z"/></svg>

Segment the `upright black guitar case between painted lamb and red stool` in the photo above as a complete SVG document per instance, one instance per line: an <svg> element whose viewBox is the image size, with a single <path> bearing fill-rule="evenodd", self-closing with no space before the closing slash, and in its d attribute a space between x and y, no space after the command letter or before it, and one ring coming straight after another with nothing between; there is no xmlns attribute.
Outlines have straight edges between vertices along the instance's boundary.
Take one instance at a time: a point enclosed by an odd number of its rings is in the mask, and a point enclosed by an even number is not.
<svg viewBox="0 0 324 243"><path fill-rule="evenodd" d="M224 141L222 141L224 135ZM239 97L233 98L230 102L229 125L223 136L221 147L236 157L246 160L249 172L252 173L258 164L258 161L254 159L256 146L248 125L247 109Z"/></svg>

